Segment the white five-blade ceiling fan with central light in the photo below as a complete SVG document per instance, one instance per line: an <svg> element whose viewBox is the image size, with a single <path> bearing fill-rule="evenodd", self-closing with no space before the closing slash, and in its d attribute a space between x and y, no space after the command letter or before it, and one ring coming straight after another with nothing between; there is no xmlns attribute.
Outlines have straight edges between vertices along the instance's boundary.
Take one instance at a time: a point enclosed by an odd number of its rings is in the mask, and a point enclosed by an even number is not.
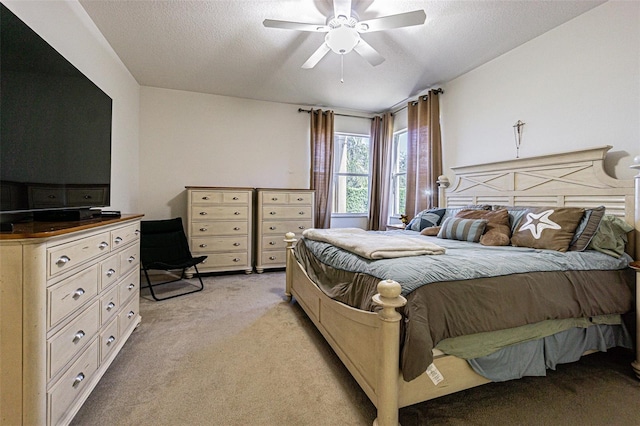
<svg viewBox="0 0 640 426"><path fill-rule="evenodd" d="M324 43L302 64L302 68L308 69L316 66L329 51L345 55L353 50L371 65L380 65L384 62L384 57L364 41L360 34L422 25L426 17L424 10L415 10L413 12L360 21L358 15L351 10L351 0L333 0L333 16L327 18L326 24L309 24L274 19L265 19L262 24L269 28L327 33Z"/></svg>

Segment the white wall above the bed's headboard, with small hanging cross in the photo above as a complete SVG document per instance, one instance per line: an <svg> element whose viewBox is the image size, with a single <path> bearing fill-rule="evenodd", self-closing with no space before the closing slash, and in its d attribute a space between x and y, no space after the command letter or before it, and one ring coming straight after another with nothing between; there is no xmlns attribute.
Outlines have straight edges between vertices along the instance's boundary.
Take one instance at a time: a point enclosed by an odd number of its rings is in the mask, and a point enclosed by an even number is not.
<svg viewBox="0 0 640 426"><path fill-rule="evenodd" d="M445 171L613 145L607 172L640 154L640 2L609 1L443 85Z"/></svg>

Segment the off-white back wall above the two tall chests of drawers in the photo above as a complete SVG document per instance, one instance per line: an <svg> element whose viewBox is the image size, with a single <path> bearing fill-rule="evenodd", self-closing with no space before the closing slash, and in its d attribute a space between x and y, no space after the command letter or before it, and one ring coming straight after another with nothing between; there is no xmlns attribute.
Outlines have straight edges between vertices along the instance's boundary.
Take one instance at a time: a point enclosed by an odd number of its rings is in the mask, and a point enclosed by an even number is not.
<svg viewBox="0 0 640 426"><path fill-rule="evenodd" d="M294 105L142 87L149 219L186 219L185 186L309 188L309 115Z"/></svg>

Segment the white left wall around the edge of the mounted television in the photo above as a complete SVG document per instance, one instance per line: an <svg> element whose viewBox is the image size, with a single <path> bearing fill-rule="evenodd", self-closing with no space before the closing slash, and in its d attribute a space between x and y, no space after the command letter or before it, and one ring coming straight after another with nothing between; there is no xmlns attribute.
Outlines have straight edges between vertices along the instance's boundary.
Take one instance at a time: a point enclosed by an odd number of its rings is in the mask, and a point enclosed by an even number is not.
<svg viewBox="0 0 640 426"><path fill-rule="evenodd" d="M140 86L77 1L2 3L113 99L111 208L140 212Z"/></svg>

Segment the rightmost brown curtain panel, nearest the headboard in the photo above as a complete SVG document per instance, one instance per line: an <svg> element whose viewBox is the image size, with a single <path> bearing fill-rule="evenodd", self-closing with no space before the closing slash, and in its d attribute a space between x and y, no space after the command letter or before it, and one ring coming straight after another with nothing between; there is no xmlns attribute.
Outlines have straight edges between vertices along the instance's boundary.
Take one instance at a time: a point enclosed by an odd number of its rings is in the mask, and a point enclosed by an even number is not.
<svg viewBox="0 0 640 426"><path fill-rule="evenodd" d="M438 205L438 176L442 174L438 91L430 90L409 102L407 129L406 214L414 217Z"/></svg>

